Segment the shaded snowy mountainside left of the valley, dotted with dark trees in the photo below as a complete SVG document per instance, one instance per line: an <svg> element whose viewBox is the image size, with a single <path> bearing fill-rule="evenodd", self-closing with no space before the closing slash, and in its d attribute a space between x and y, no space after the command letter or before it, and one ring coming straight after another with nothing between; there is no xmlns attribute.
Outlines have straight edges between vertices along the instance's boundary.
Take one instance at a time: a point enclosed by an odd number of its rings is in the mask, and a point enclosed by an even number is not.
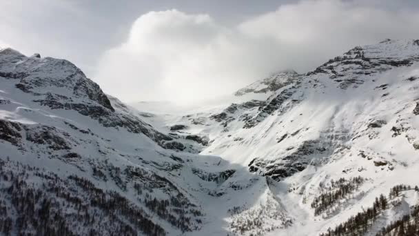
<svg viewBox="0 0 419 236"><path fill-rule="evenodd" d="M68 61L1 50L0 84L6 235L198 230L197 196L232 174L218 157L177 153L201 144L155 130Z"/></svg>

